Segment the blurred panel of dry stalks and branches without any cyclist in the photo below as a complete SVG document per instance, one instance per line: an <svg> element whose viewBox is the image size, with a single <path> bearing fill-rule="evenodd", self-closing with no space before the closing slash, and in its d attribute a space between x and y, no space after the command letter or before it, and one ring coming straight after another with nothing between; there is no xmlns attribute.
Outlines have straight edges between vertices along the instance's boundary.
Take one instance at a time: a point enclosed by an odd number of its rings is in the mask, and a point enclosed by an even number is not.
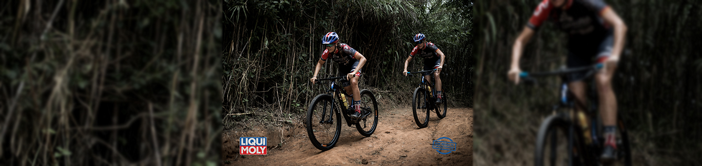
<svg viewBox="0 0 702 166"><path fill-rule="evenodd" d="M0 165L217 165L221 3L0 2Z"/></svg>

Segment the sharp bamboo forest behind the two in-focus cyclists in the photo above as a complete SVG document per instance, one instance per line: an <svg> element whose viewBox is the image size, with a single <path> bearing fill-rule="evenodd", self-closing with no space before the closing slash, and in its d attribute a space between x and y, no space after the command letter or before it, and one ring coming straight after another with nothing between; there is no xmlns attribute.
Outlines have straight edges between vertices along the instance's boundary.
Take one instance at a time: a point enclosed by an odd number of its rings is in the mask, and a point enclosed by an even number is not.
<svg viewBox="0 0 702 166"><path fill-rule="evenodd" d="M418 78L402 68L418 33L446 55L449 106L472 106L471 1L234 0L223 10L225 130L249 128L252 118L301 120L312 97L329 88L310 83L327 32L368 59L359 88L373 90L381 108L409 106ZM422 63L413 58L408 71ZM336 75L337 66L325 63L318 77Z"/></svg>

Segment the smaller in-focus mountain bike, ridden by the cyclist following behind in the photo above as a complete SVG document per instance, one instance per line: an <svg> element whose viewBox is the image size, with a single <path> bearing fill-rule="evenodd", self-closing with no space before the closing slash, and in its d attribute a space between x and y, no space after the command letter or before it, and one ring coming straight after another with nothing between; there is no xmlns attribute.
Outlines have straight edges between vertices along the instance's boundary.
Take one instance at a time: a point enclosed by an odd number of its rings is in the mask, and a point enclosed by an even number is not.
<svg viewBox="0 0 702 166"><path fill-rule="evenodd" d="M432 74L430 75L432 75L433 78L433 73L436 72L436 69L407 72L407 76L414 76L414 74L418 74L419 78L421 79L419 86L414 89L414 94L412 95L412 114L414 115L414 122L417 123L419 128L424 128L429 125L430 111L436 112L439 118L446 117L446 101L448 101L444 90L444 92L442 92L443 96L441 104L436 104L434 102L436 101L437 96L436 87L431 81L428 81L424 78L424 76L421 76L420 73L425 72L431 72ZM442 109L442 106L444 109Z"/></svg>

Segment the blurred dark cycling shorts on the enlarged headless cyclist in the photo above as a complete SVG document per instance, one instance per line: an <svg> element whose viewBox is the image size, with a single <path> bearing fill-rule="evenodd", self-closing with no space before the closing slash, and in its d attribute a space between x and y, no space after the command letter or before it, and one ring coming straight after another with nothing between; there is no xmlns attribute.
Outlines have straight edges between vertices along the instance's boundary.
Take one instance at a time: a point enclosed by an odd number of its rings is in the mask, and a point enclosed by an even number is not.
<svg viewBox="0 0 702 166"><path fill-rule="evenodd" d="M614 47L614 34L609 31L607 37L602 39L602 42L597 46L596 53L574 53L568 51L568 59L566 65L568 68L574 67L587 67L595 64L601 60L606 60L612 53L612 47ZM585 79L585 74L588 71L581 71L573 74L568 74L567 82L583 81Z"/></svg>

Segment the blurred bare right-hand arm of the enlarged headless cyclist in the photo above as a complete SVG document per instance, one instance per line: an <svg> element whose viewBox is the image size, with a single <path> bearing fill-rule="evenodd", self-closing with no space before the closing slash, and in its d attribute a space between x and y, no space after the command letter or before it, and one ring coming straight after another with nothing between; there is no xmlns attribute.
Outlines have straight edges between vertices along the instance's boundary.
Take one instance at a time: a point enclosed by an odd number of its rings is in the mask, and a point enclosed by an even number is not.
<svg viewBox="0 0 702 166"><path fill-rule="evenodd" d="M607 24L614 27L614 47L612 47L612 55L609 56L607 62L618 62L619 55L621 55L621 50L624 47L624 35L626 34L626 25L624 21L619 18L612 8L606 8L602 12L602 19Z"/></svg>

